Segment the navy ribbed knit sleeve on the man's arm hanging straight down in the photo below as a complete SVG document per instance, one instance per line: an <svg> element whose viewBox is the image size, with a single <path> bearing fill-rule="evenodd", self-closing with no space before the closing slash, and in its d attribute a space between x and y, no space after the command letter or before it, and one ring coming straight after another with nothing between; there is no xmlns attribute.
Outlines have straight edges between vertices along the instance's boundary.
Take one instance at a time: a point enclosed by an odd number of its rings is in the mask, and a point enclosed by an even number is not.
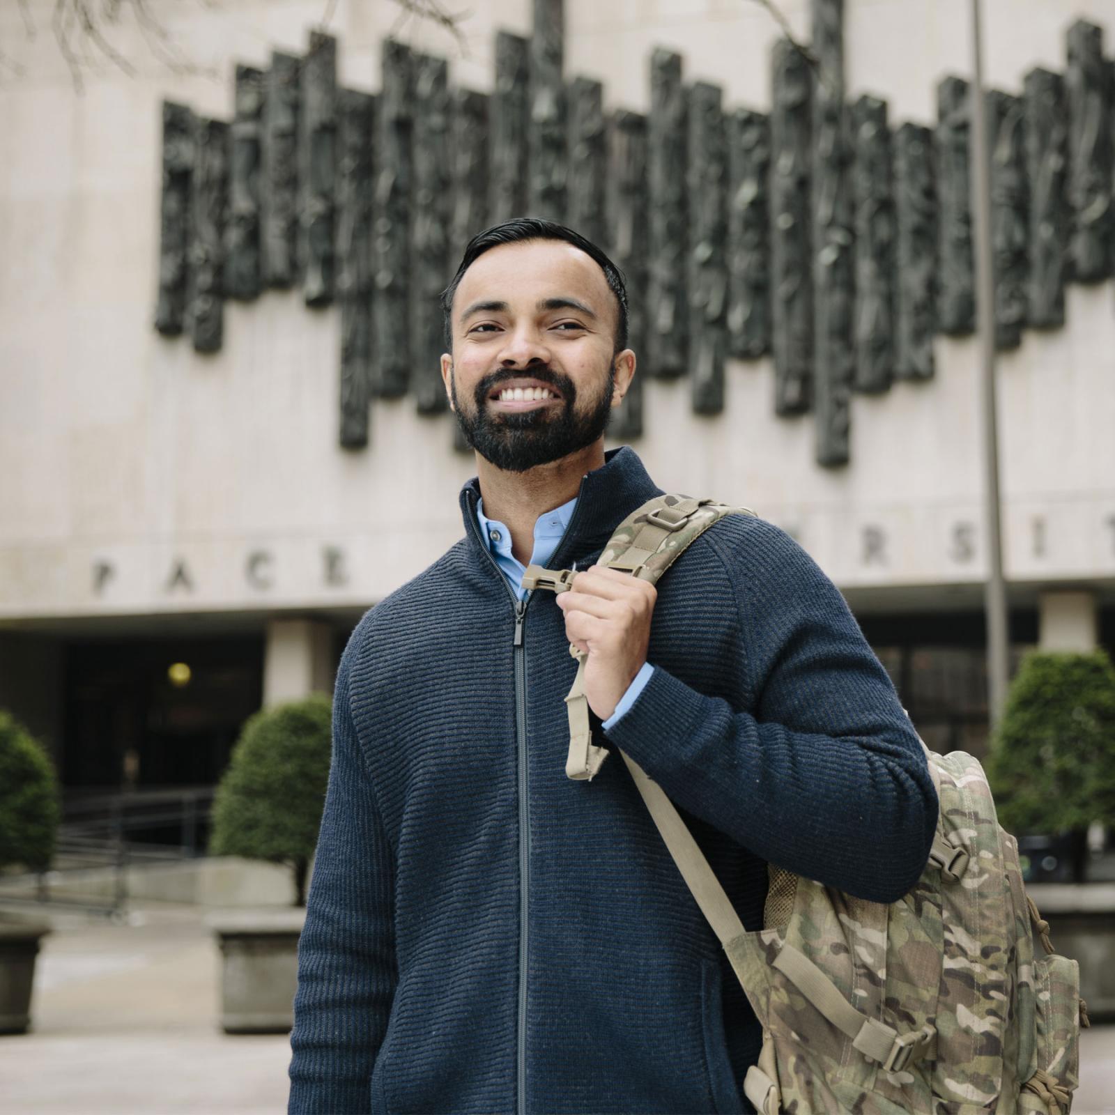
<svg viewBox="0 0 1115 1115"><path fill-rule="evenodd" d="M337 675L329 784L298 943L290 1115L370 1111L371 1070L397 979L394 857L349 698L355 642Z"/></svg>

